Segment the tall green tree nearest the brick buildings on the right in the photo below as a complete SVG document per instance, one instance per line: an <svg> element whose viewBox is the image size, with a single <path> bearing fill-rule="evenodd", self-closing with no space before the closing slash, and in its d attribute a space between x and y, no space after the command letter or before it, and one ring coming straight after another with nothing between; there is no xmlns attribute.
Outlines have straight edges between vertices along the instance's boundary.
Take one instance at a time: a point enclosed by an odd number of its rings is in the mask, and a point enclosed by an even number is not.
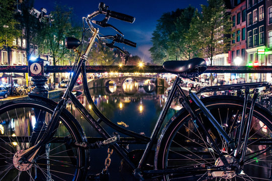
<svg viewBox="0 0 272 181"><path fill-rule="evenodd" d="M193 19L191 29L199 32L199 48L213 65L214 55L225 53L230 48L232 22L223 0L208 2L208 6L201 6L202 14Z"/></svg>

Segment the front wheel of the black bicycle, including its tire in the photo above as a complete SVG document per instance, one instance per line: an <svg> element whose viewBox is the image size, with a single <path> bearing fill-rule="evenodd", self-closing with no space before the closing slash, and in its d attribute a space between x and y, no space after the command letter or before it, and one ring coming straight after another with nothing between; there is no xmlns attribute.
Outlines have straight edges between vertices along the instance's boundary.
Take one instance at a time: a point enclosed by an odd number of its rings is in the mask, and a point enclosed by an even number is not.
<svg viewBox="0 0 272 181"><path fill-rule="evenodd" d="M46 145L49 149L40 148L30 164L19 164L15 158L15 153L20 154L20 150L37 143L42 131L35 129L36 123L43 119L47 124L54 108L38 100L19 100L0 106L0 180L85 180L88 152L68 142L82 143L86 138L74 116L65 109L59 117L59 127Z"/></svg>

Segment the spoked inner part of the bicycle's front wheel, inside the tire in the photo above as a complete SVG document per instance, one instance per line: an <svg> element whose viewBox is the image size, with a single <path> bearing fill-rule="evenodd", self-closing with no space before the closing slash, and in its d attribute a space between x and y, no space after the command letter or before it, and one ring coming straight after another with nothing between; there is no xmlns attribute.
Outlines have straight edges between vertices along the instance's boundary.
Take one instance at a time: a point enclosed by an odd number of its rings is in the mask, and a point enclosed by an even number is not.
<svg viewBox="0 0 272 181"><path fill-rule="evenodd" d="M0 180L34 180L36 175L39 180L76 180L80 176L78 168L82 166L82 151L58 139L66 136L75 140L78 136L63 119L59 120L60 126L54 134L54 139L46 145L47 149L41 148L46 151L41 151L40 155L33 159L31 167L26 171L15 167L18 164L14 163L14 154L37 143L32 134L33 130L37 131L35 124L41 118L45 119L47 124L51 117L52 110L31 107L33 105L13 105L0 111ZM46 124L42 124L41 128ZM36 136L41 137L42 132L37 131Z"/></svg>

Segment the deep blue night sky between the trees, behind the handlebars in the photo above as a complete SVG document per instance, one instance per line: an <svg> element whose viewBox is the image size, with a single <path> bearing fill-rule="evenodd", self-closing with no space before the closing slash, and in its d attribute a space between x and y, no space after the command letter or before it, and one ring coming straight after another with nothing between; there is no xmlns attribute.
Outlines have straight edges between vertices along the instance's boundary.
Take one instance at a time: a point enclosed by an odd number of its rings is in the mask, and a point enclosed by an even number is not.
<svg viewBox="0 0 272 181"><path fill-rule="evenodd" d="M37 10L45 8L47 12L50 12L54 9L55 2L59 5L73 7L74 21L78 21L80 24L82 17L87 17L88 14L96 11L101 1L36 0L34 8ZM145 62L151 61L150 52L148 51L152 47L151 37L156 28L157 20L160 19L163 13L175 11L177 8L187 8L189 5L200 10L200 4L207 5L206 0L104 0L102 2L109 6L109 10L135 17L133 24L115 19L110 19L108 23L118 28L124 34L124 38L137 43L137 48L125 46L125 49L132 55L140 56ZM100 28L100 32L103 33L102 28ZM108 31L104 31L104 33L104 35L109 35ZM111 34L114 35L114 32L111 32ZM120 46L122 48L122 45Z"/></svg>

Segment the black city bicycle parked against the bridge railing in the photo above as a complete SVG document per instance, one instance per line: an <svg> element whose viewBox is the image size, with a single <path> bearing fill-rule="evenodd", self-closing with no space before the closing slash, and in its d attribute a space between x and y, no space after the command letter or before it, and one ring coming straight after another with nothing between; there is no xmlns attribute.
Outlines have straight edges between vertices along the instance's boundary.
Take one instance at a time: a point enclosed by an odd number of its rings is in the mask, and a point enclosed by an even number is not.
<svg viewBox="0 0 272 181"><path fill-rule="evenodd" d="M103 21L92 20L99 14L105 15ZM186 96L180 86L182 78L194 80L206 70L206 61L202 58L167 61L163 64L164 69L177 76L151 137L113 124L97 109L88 91L85 67L95 39L110 39L112 42L105 45L120 51L115 42L136 45L107 23L110 17L130 23L134 21L133 17L110 11L100 3L99 10L84 18L88 28L84 28L83 34L89 30L93 33L85 53L81 54L84 41L65 40L66 47L74 49L79 56L73 67L74 74L58 103L29 94L28 100L0 106L0 180L107 180L111 149L122 158L123 167L130 170L130 180L271 180L272 115L255 104L259 87L267 87L266 90L270 91L267 82L204 87ZM99 36L99 29L93 24L111 27L119 34ZM85 96L98 119L72 93L80 73ZM202 99L197 96L228 90L236 90L237 96ZM179 96L183 108L160 132L176 96ZM65 109L68 98L104 141L88 142L79 122ZM132 158L133 154L122 146L118 133L107 133L100 124L102 122L117 132L147 143L140 157ZM110 148L105 168L101 173L87 175L90 166L88 150L100 147ZM150 162L153 153L154 162ZM254 168L258 168L260 175L252 171Z"/></svg>

